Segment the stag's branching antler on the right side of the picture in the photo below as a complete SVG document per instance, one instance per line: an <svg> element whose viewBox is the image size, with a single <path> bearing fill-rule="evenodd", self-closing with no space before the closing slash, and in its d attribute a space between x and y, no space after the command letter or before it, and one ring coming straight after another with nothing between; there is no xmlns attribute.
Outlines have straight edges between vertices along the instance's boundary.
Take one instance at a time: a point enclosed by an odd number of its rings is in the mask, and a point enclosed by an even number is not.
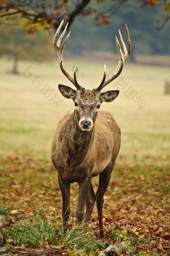
<svg viewBox="0 0 170 256"><path fill-rule="evenodd" d="M111 81L113 81L116 77L118 77L122 71L124 62L127 60L127 58L130 56L131 53L131 44L130 44L130 37L128 34L128 29L127 29L127 25L125 24L125 30L126 30L126 37L127 37L127 45L128 45L128 50L126 49L126 46L124 44L124 41L122 39L120 30L118 30L119 32L119 36L120 36L120 40L123 46L123 50L124 50L124 54L122 54L121 52L121 48L120 48L120 44L118 42L117 37L115 36L115 41L116 41L116 45L117 45L117 51L118 51L118 55L119 55L119 61L118 61L118 65L114 71L114 73L112 74L111 78L105 81L105 77L106 77L106 67L104 64L104 75L103 75L103 79L100 83L100 85L96 88L96 91L101 91L101 89L103 89L107 84L109 84ZM105 81L105 82L104 82Z"/></svg>

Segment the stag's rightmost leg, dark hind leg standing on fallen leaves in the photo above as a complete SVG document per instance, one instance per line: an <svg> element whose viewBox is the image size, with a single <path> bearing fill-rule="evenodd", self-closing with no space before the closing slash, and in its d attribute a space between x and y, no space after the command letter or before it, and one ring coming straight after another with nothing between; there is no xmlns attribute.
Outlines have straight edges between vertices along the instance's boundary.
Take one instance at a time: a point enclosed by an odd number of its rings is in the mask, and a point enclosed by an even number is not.
<svg viewBox="0 0 170 256"><path fill-rule="evenodd" d="M99 238L104 237L103 224L102 224L102 206L103 206L103 195L108 187L110 176L112 172L113 166L107 166L100 174L99 174L99 184L98 189L96 191L96 204L98 211L98 222L99 222Z"/></svg>

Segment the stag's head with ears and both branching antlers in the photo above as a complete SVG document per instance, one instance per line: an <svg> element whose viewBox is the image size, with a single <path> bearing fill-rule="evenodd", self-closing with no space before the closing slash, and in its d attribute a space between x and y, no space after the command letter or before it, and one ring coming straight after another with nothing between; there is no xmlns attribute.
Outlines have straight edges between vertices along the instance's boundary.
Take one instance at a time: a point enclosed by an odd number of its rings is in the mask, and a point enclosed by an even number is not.
<svg viewBox="0 0 170 256"><path fill-rule="evenodd" d="M60 64L60 69L61 69L62 73L76 87L76 90L73 90L72 88L70 88L68 86L64 86L64 85L58 85L58 88L59 88L60 93L65 98L72 99L74 102L74 105L75 105L74 113L75 113L77 127L80 128L82 131L90 131L95 123L100 104L102 102L111 102L118 96L118 93L119 93L118 90L106 91L103 93L100 93L100 91L107 84L109 84L111 81L113 81L116 77L119 76L119 74L122 71L124 62L126 61L126 59L129 57L129 55L131 53L131 45L130 45L128 29L127 29L127 26L125 25L128 49L126 49L125 43L122 39L120 30L119 30L119 36L120 36L120 40L121 40L121 43L123 46L124 54L122 54L118 39L115 36L117 51L118 51L118 55L119 55L119 62L118 62L118 65L117 65L114 73L112 74L111 78L105 81L106 66L104 64L104 74L103 74L103 78L102 78L100 85L96 89L87 90L87 89L84 89L83 87L81 87L77 82L77 79L76 79L77 67L76 66L74 67L73 78L68 74L68 72L66 71L66 69L64 67L62 53L63 53L63 49L68 41L68 38L70 36L70 32L66 36L63 43L60 45L61 40L64 37L67 26L68 26L68 23L67 23L61 36L57 40L60 29L62 27L62 24L63 24L63 21L61 22L61 24L59 25L59 27L56 31L56 34L53 39L53 46L56 51L58 61Z"/></svg>

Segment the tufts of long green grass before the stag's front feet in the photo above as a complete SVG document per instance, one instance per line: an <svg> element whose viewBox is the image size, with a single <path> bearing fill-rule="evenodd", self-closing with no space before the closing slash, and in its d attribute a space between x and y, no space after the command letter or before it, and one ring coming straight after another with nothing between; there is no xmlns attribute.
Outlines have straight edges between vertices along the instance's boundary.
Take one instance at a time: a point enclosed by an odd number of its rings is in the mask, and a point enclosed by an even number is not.
<svg viewBox="0 0 170 256"><path fill-rule="evenodd" d="M2 206L4 208L4 206ZM19 220L13 218L14 224L5 229L3 232L3 244L10 243L12 246L38 247L38 244L43 245L45 241L48 244L64 245L66 248L73 247L87 248L92 246L95 239L90 235L90 232L84 231L82 226L74 226L69 228L66 234L62 233L61 220L53 217L52 221L48 220L47 211L39 208L32 212L29 216L20 215Z"/></svg>

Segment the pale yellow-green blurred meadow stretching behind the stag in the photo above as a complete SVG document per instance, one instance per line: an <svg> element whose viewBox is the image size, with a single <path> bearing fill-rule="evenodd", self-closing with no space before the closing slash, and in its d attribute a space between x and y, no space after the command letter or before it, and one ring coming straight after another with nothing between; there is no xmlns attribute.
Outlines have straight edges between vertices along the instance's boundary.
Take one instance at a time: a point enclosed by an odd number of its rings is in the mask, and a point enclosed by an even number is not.
<svg viewBox="0 0 170 256"><path fill-rule="evenodd" d="M102 61L95 65L77 62L80 84L89 89L98 85L103 73ZM70 72L73 64L66 60ZM55 62L38 65L31 63L30 78L23 76L29 63L20 63L18 76L5 73L8 65L7 61L0 61L0 90L3 95L0 101L0 156L29 154L34 150L35 157L50 159L56 124L64 113L73 110L72 101L60 96L57 85L61 83L69 86L70 82L64 78ZM107 74L114 65L115 63L108 63ZM43 80L39 88L32 84L37 76ZM150 163L156 161L158 165L168 162L170 103L169 96L164 94L164 82L168 77L168 67L125 63L119 78L106 88L120 89L118 98L112 103L103 103L101 108L111 111L121 128L119 157L124 157L127 164L142 164L144 158L146 162L149 158ZM119 87L122 79L126 84L124 89ZM57 107L50 96L46 98L42 94L42 87L46 84L53 90L51 96L57 93L61 97L61 103ZM125 96L129 87L136 92L132 100ZM133 103L138 96L146 102L141 109Z"/></svg>

